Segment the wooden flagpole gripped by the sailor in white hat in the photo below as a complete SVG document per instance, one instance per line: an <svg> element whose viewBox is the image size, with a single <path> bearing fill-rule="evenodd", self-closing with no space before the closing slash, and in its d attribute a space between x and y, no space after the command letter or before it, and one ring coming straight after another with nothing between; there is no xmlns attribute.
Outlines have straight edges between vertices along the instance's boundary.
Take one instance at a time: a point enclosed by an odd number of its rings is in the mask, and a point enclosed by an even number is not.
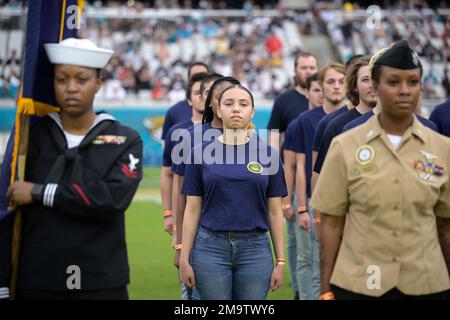
<svg viewBox="0 0 450 320"><path fill-rule="evenodd" d="M25 0L22 0L22 10L25 10ZM26 20L24 16L21 16L21 29L24 30L25 36L22 41L22 61L20 68L20 79L21 86L23 84L23 73L24 73L24 61L25 61L25 43L26 43ZM18 106L19 98L17 98L16 106ZM19 112L19 111L17 111ZM19 154L18 154L18 178L19 181L25 180L25 164L26 156L28 151L28 141L29 141L29 131L30 131L30 116L28 114L21 114L19 116L20 121L20 131L19 131ZM16 124L17 125L17 124ZM14 172L12 174L15 174ZM14 216L14 226L12 232L12 242L11 242L11 284L9 287L10 298L12 300L16 299L17 294L17 279L19 274L19 257L20 257L20 246L21 246L21 235L22 235L22 209L19 207L16 210Z"/></svg>

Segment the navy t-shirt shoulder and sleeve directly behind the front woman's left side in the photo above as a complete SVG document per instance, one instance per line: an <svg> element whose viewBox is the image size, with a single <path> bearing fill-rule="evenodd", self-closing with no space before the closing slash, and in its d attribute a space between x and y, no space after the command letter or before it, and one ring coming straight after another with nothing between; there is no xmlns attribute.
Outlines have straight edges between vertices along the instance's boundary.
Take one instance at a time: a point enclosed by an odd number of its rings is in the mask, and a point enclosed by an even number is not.
<svg viewBox="0 0 450 320"><path fill-rule="evenodd" d="M189 152L186 154L186 157L183 157L180 163L172 162L172 171L181 177L184 177L186 170L185 160L189 157L191 149L198 144L212 141L223 133L223 128L213 128L209 122L205 124L194 124L187 130L189 135Z"/></svg>

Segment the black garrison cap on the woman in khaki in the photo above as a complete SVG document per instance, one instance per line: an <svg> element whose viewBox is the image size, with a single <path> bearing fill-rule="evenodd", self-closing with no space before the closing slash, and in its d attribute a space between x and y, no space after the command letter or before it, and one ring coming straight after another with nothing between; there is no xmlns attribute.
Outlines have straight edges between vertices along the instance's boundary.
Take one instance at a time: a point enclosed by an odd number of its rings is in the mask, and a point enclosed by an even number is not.
<svg viewBox="0 0 450 320"><path fill-rule="evenodd" d="M375 64L403 70L422 68L419 56L406 40L394 43L375 61Z"/></svg>

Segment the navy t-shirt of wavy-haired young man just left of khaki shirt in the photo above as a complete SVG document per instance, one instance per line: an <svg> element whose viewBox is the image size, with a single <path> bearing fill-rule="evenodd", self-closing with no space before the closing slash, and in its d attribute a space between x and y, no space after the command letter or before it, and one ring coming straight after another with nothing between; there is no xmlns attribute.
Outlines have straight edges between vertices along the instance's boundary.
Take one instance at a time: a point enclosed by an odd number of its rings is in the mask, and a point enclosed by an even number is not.
<svg viewBox="0 0 450 320"><path fill-rule="evenodd" d="M328 153L328 149L330 148L333 138L341 134L342 128L347 123L359 118L360 116L362 116L362 114L356 108L353 108L348 110L346 113L340 114L328 123L325 132L323 133L322 141L320 142L319 152L317 153L316 163L314 164L314 172L320 173L322 170L325 157Z"/></svg>

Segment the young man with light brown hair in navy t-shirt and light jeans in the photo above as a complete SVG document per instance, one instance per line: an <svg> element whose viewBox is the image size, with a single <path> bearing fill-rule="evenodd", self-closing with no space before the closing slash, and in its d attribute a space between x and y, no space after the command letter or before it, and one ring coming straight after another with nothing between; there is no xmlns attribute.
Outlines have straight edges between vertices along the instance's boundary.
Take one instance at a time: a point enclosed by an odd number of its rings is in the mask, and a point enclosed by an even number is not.
<svg viewBox="0 0 450 320"><path fill-rule="evenodd" d="M314 130L326 114L342 106L345 98L345 67L333 63L319 73L322 86L323 107L314 108L301 114L296 120L296 194L298 199L299 228L297 236L297 278L301 300L318 300L320 296L319 246L315 238L315 228L310 222L312 216L308 208L311 197L312 145ZM319 222L319 221L315 221Z"/></svg>

